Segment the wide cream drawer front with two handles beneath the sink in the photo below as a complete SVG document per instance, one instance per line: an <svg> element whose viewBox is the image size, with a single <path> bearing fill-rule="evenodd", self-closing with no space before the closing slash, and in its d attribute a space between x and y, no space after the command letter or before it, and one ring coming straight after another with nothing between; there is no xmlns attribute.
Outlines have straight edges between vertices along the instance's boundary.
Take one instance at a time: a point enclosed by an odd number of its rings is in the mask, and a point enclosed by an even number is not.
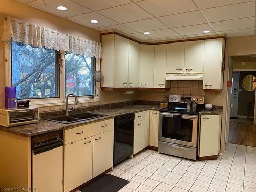
<svg viewBox="0 0 256 192"><path fill-rule="evenodd" d="M99 121L87 125L74 127L64 132L64 144L68 144L80 139L92 137L94 135L114 129L114 119Z"/></svg>

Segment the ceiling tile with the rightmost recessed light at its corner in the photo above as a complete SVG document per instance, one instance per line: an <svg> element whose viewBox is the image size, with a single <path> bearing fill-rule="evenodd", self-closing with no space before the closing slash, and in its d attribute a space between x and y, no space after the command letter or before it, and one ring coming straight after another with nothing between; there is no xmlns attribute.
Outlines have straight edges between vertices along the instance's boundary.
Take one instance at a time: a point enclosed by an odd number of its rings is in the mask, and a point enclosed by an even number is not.
<svg viewBox="0 0 256 192"><path fill-rule="evenodd" d="M192 26L185 26L185 27L177 27L173 28L178 34L184 35L195 35L195 34L205 34L203 31L211 30L208 24L200 24L200 25L192 25Z"/></svg>

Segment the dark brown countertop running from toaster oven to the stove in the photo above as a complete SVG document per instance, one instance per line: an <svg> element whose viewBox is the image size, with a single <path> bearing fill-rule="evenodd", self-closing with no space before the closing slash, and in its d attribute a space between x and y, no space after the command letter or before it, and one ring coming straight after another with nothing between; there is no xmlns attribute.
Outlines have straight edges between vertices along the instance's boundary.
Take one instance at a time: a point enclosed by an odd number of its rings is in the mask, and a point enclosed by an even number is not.
<svg viewBox="0 0 256 192"><path fill-rule="evenodd" d="M30 136L57 131L61 129L64 129L64 130L70 129L76 126L81 126L81 125L85 125L85 124L89 124L89 123L93 123L93 122L101 121L105 119L111 119L121 115L129 114L129 113L137 113L145 110L159 110L159 109L160 109L159 105L131 105L131 106L125 106L121 108L114 108L114 109L101 109L101 110L95 110L95 111L88 111L89 113L102 114L106 116L84 120L80 122L74 122L70 124L58 123L58 122L42 119L38 123L34 123L34 124L14 126L9 128L0 126L0 130L6 131L12 134L24 136L24 137L30 137Z"/></svg>

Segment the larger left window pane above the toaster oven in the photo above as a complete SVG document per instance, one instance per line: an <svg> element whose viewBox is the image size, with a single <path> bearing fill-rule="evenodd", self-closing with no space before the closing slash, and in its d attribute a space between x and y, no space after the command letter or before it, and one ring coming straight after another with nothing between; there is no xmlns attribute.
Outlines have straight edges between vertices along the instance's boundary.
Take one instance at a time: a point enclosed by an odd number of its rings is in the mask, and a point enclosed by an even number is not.
<svg viewBox="0 0 256 192"><path fill-rule="evenodd" d="M17 99L59 97L58 55L53 49L11 42L12 86L17 88Z"/></svg>

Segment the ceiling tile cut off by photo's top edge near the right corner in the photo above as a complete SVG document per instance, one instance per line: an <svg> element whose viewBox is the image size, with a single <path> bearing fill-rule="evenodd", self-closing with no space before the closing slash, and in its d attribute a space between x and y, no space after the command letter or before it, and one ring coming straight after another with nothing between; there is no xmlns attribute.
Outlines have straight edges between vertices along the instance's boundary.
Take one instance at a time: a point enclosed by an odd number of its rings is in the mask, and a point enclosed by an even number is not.
<svg viewBox="0 0 256 192"><path fill-rule="evenodd" d="M243 2L249 2L249 1L251 0L214 0L214 1L195 0L197 6L201 9L231 5L231 4L243 3Z"/></svg>

